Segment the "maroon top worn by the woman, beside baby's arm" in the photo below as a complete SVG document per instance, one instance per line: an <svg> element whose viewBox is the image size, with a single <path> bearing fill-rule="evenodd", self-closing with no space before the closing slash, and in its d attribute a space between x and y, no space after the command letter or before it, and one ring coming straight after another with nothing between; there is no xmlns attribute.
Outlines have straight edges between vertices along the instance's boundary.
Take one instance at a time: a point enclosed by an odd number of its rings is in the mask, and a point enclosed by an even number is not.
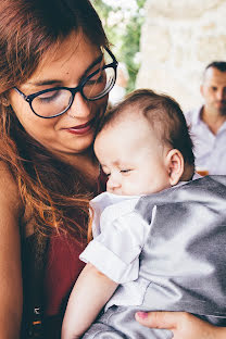
<svg viewBox="0 0 226 339"><path fill-rule="evenodd" d="M101 172L98 183L98 191L105 190L106 177ZM79 260L79 254L86 246L86 240L78 243L72 238L53 236L50 238L49 251L47 256L46 278L45 278L45 314L51 318L56 316L61 324L66 302L71 290L80 273L85 263ZM48 321L49 322L49 321ZM55 326L55 321L48 323L48 328ZM55 328L55 337L52 331L49 338L56 338L59 329Z"/></svg>

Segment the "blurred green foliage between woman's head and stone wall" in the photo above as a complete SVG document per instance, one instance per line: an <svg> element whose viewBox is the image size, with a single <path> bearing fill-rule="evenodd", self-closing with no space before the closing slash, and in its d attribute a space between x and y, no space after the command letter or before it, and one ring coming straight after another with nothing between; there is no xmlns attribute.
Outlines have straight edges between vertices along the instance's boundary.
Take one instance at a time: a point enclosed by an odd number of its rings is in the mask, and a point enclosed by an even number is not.
<svg viewBox="0 0 226 339"><path fill-rule="evenodd" d="M109 3L113 4L109 4ZM127 91L135 88L139 71L140 30L145 20L143 5L146 0L135 0L136 10L115 5L114 1L93 0L96 8L116 59L124 62L129 74Z"/></svg>

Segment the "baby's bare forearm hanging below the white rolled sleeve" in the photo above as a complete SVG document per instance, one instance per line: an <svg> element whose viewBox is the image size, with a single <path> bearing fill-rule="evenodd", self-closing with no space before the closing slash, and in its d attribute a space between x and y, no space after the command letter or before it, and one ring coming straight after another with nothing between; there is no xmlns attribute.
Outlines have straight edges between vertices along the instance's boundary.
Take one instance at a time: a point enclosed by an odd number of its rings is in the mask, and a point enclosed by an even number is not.
<svg viewBox="0 0 226 339"><path fill-rule="evenodd" d="M87 264L80 273L66 306L62 339L79 338L112 297L118 284Z"/></svg>

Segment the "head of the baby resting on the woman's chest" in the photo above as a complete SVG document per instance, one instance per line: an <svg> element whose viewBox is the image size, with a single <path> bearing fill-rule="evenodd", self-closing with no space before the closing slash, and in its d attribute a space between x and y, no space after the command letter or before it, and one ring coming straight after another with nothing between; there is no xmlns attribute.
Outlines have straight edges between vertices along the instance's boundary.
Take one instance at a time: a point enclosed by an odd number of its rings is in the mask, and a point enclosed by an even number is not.
<svg viewBox="0 0 226 339"><path fill-rule="evenodd" d="M194 158L176 101L152 90L130 93L103 118L95 152L115 194L149 194L189 180Z"/></svg>

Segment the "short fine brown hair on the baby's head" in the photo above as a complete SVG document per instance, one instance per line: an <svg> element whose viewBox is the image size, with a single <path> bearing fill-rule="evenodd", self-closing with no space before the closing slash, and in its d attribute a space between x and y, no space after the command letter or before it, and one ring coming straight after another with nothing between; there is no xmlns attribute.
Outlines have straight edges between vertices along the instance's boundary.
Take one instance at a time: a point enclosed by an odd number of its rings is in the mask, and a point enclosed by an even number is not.
<svg viewBox="0 0 226 339"><path fill-rule="evenodd" d="M179 150L185 163L194 166L193 143L185 116L179 104L166 95L158 95L150 89L135 90L104 115L98 133L136 112L142 112L163 145Z"/></svg>

